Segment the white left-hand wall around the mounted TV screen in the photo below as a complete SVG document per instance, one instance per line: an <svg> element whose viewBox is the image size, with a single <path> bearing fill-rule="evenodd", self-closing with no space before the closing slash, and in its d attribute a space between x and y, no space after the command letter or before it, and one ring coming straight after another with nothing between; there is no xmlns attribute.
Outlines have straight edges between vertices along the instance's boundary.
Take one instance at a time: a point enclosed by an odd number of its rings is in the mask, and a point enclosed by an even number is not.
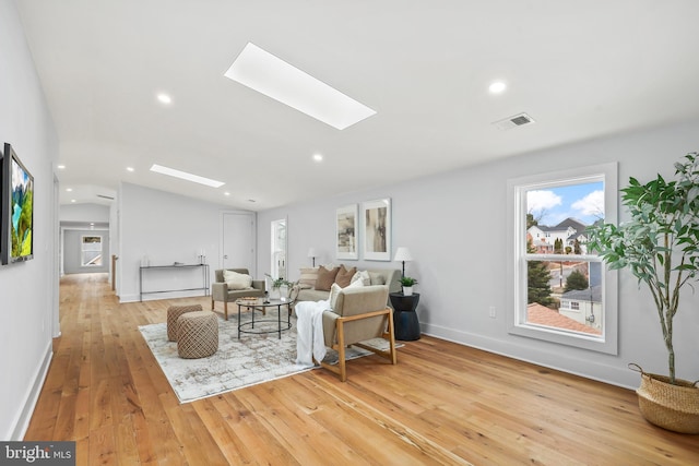
<svg viewBox="0 0 699 466"><path fill-rule="evenodd" d="M0 439L21 440L51 356L58 140L11 0L0 0L0 142L34 176L34 259L0 266Z"/></svg>

